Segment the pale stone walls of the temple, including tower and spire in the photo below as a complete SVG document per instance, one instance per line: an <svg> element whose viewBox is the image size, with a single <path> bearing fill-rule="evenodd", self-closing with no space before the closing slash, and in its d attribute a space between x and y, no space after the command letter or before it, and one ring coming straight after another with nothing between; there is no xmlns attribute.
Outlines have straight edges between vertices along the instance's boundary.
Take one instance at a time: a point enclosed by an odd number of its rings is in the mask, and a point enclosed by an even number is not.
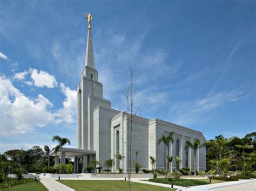
<svg viewBox="0 0 256 191"><path fill-rule="evenodd" d="M117 154L125 157L119 162L119 167L126 173L129 166L128 145L131 120L126 112L111 109L111 102L103 99L103 84L98 82L90 30L88 31L85 57L82 80L77 87L78 149L83 152L79 155L76 149L75 173L84 172L87 164L94 159L98 160L100 164L104 164L107 159L114 159L115 165L112 171L118 171L118 161L115 157ZM193 143L194 139L199 139L201 143L204 143L203 133L160 119L150 120L139 116L133 117L132 124L132 172L134 171L133 161L136 161L134 152L138 150L140 152L137 162L142 165L142 169L152 169L150 156L156 158L157 169L165 169L165 145L158 144L158 140L162 135L168 135L170 132L175 134L174 142L169 145L169 155L180 157L182 160L180 168L190 167L191 171L194 171L193 151L191 148L186 150L185 143L186 140ZM118 147L119 150L117 150ZM206 168L205 148L202 147L197 152L197 171L204 171ZM54 154L52 153L52 155ZM56 162L58 161L56 160ZM103 166L103 169L106 167ZM176 170L174 160L171 169Z"/></svg>

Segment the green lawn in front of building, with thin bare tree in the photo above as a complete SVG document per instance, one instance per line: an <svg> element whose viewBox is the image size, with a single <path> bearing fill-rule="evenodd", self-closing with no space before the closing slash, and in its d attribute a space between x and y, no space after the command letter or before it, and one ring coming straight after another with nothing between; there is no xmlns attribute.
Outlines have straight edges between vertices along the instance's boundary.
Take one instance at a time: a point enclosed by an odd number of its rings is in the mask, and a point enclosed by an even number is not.
<svg viewBox="0 0 256 191"><path fill-rule="evenodd" d="M123 180L59 180L60 183L75 190L127 190L127 181ZM131 182L131 190L172 190L166 187Z"/></svg>

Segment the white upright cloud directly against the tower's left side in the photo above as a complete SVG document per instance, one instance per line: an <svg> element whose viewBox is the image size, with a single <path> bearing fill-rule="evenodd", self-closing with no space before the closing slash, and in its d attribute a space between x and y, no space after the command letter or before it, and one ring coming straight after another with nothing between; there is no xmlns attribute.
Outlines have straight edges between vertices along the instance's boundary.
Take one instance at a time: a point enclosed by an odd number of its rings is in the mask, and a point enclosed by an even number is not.
<svg viewBox="0 0 256 191"><path fill-rule="evenodd" d="M56 113L56 123L74 123L77 116L77 91L65 87L63 83L60 83L60 89L66 98L63 102L63 108Z"/></svg>

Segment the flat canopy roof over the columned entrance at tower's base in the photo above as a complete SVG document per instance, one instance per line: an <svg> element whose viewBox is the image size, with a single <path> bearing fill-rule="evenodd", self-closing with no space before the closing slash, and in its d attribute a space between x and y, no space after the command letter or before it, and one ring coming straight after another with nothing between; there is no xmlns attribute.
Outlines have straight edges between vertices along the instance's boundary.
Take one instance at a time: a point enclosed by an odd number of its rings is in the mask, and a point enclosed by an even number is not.
<svg viewBox="0 0 256 191"><path fill-rule="evenodd" d="M86 150L80 148L62 148L62 152L66 154L66 157L78 157L83 154L96 154L94 150ZM60 150L55 152L52 150L50 156L60 156Z"/></svg>

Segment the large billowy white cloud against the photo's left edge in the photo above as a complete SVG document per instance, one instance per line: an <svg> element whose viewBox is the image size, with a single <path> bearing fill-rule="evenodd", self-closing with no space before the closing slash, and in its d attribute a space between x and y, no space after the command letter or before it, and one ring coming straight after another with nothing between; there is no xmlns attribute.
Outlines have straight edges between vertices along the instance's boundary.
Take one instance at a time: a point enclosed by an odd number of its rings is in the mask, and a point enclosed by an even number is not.
<svg viewBox="0 0 256 191"><path fill-rule="evenodd" d="M52 113L48 110L52 103L39 94L30 100L12 85L10 79L0 76L0 112L1 133L26 133L36 126L44 126L53 120Z"/></svg>

